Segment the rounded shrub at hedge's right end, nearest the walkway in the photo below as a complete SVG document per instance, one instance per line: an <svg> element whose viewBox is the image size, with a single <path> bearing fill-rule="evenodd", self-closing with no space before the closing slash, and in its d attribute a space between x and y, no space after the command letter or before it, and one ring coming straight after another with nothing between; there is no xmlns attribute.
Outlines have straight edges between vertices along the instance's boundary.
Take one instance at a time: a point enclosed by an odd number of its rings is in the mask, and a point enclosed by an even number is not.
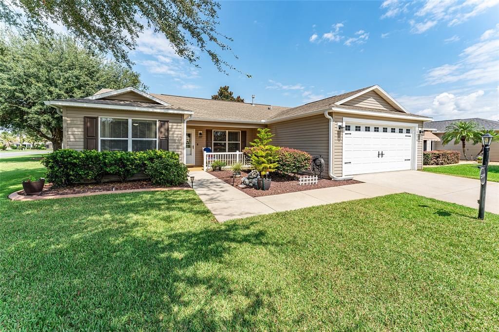
<svg viewBox="0 0 499 332"><path fill-rule="evenodd" d="M159 159L146 166L145 173L157 185L175 186L187 182L189 169L179 160Z"/></svg>

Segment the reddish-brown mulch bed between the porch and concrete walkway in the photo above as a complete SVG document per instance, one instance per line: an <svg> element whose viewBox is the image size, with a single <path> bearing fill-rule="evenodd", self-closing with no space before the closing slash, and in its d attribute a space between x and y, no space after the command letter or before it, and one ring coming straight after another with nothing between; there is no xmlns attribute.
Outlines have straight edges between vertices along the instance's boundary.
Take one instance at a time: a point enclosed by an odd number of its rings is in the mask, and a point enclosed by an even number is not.
<svg viewBox="0 0 499 332"><path fill-rule="evenodd" d="M220 170L220 171L210 171L210 174L218 177L226 183L232 185L233 177L232 170ZM343 180L343 181L334 181L328 179L320 179L317 184L311 185L299 185L297 180L293 180L290 178L277 177L272 176L272 183L270 184L270 189L268 190L257 190L253 187L240 188L238 184L241 184L241 179L248 174L247 171L241 171L241 177L236 177L234 181L234 187L246 192L252 197L260 197L260 196L268 196L268 195L278 195L286 192L296 192L296 191L305 191L311 189L319 189L319 188L328 188L328 187L337 187L340 185L347 184L355 184L362 183L357 180Z"/></svg>

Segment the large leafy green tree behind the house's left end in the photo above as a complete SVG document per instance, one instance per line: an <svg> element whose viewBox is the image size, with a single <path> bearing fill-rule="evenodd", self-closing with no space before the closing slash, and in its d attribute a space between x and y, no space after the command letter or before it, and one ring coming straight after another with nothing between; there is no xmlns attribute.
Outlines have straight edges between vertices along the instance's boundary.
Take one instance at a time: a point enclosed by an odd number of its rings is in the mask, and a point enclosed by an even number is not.
<svg viewBox="0 0 499 332"><path fill-rule="evenodd" d="M102 88L146 89L138 73L79 46L0 35L0 127L37 135L61 148L62 117L44 100L83 98Z"/></svg>

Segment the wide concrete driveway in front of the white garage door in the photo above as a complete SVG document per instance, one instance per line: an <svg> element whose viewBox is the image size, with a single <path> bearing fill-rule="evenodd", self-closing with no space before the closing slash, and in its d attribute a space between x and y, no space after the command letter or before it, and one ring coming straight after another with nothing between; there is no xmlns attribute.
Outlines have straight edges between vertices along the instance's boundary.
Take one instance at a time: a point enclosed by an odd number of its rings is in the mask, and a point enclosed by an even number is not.
<svg viewBox="0 0 499 332"><path fill-rule="evenodd" d="M480 180L417 170L356 175L356 180L478 209ZM499 182L487 182L486 211L499 214Z"/></svg>

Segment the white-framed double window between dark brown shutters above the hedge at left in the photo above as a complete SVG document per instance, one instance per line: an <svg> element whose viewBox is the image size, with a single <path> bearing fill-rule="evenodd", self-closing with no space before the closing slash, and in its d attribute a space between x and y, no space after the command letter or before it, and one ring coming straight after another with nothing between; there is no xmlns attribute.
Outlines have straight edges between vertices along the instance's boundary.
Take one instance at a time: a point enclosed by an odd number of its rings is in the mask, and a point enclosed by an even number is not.
<svg viewBox="0 0 499 332"><path fill-rule="evenodd" d="M100 151L145 151L157 147L156 120L100 118Z"/></svg>

